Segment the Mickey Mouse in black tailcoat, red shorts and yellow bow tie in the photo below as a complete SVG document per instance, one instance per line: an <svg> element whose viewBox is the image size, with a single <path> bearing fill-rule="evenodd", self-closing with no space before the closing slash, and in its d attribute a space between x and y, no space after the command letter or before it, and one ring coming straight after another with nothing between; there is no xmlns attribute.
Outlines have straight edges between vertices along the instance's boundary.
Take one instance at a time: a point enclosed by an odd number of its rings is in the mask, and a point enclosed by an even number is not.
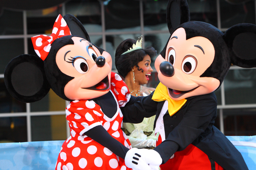
<svg viewBox="0 0 256 170"><path fill-rule="evenodd" d="M160 137L154 150L162 170L248 170L242 155L213 126L213 91L231 64L256 67L256 26L237 24L223 34L211 24L189 20L187 1L169 0L171 36L155 61L160 84L148 97L131 97L135 104L128 102L121 110L137 110L134 119L157 112L154 126Z"/></svg>

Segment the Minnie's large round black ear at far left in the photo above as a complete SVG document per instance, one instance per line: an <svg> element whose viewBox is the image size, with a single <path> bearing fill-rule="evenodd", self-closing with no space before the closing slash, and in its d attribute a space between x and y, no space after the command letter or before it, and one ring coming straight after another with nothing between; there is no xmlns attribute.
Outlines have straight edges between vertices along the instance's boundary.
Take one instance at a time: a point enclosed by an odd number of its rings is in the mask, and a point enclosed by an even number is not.
<svg viewBox="0 0 256 170"><path fill-rule="evenodd" d="M50 90L44 62L34 55L19 55L7 64L4 82L9 93L22 102L41 100Z"/></svg>

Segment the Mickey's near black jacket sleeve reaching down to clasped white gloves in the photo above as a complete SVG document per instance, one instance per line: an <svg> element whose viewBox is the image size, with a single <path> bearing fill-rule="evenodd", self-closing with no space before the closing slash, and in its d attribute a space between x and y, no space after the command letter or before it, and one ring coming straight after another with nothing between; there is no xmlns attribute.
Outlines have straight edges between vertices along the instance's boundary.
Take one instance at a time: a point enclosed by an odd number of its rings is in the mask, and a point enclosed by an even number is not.
<svg viewBox="0 0 256 170"><path fill-rule="evenodd" d="M184 150L204 133L215 116L216 109L217 101L211 95L197 97L189 103L182 121L169 133L165 141L154 148L161 155L163 163L166 163L176 151Z"/></svg>

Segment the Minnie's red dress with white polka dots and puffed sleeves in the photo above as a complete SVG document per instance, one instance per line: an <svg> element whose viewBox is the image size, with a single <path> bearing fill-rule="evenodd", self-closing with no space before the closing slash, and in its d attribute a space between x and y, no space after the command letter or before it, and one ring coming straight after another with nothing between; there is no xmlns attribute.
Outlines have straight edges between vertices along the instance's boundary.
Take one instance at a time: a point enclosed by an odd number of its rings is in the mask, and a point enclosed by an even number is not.
<svg viewBox="0 0 256 170"><path fill-rule="evenodd" d="M117 106L124 106L130 97L130 92L121 77L111 73L111 93ZM71 128L71 136L63 143L56 163L56 170L130 170L124 164L124 159L113 154L108 148L100 145L90 137L83 135L95 126L103 126L107 132L127 148L130 141L122 132L122 112L117 112L112 118L102 112L93 101L72 101L66 108L66 119ZM100 134L99 134L100 135Z"/></svg>

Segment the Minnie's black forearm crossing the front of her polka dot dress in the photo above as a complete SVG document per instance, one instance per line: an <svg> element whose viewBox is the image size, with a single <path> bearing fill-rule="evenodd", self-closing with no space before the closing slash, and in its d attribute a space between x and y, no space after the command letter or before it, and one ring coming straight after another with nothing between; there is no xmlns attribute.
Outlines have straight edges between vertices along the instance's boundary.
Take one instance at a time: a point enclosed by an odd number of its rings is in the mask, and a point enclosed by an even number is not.
<svg viewBox="0 0 256 170"><path fill-rule="evenodd" d="M84 133L91 139L95 140L102 146L108 148L115 155L125 158L126 153L128 152L128 148L126 148L119 141L114 139L107 131L103 128L103 126L95 126L94 128L88 130Z"/></svg>

